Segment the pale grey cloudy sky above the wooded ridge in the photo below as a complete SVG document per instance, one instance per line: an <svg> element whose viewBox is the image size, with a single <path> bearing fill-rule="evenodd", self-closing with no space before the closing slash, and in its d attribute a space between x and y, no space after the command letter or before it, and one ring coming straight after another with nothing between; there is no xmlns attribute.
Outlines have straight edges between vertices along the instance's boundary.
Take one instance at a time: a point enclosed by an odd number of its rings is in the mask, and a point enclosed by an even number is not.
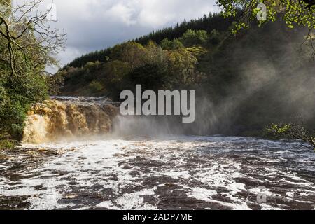
<svg viewBox="0 0 315 224"><path fill-rule="evenodd" d="M55 26L67 34L64 65L83 53L218 11L214 0L53 0ZM52 0L43 0L43 6Z"/></svg>

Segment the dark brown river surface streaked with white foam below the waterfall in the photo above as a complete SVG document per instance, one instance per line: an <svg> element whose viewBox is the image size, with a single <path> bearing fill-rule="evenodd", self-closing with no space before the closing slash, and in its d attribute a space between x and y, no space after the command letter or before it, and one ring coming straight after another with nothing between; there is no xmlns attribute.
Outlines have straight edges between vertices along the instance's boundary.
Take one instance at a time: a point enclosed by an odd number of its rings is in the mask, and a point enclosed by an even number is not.
<svg viewBox="0 0 315 224"><path fill-rule="evenodd" d="M315 209L300 142L169 136L0 152L0 209Z"/></svg>

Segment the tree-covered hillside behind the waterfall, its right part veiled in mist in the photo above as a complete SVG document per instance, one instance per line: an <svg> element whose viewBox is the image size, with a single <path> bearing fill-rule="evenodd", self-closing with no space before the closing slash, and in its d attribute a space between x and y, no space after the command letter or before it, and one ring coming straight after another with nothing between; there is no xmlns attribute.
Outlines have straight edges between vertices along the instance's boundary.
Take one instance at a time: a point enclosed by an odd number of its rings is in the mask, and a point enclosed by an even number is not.
<svg viewBox="0 0 315 224"><path fill-rule="evenodd" d="M74 60L55 77L64 95L197 90L194 134L260 135L271 123L315 125L315 64L307 31L281 20L231 34L232 20L204 16ZM87 62L87 63L85 63ZM83 63L84 66L83 66ZM183 127L185 129L185 127Z"/></svg>

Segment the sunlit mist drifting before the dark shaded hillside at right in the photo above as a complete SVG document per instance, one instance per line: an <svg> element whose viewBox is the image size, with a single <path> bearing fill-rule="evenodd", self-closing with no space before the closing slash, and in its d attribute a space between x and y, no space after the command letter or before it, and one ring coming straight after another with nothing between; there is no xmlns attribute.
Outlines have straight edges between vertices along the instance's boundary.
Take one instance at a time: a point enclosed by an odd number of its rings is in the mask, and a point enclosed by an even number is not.
<svg viewBox="0 0 315 224"><path fill-rule="evenodd" d="M314 130L315 62L309 45L301 45L305 34L276 23L226 43L226 59L222 55L214 59L214 69L208 71L213 78L196 91L196 122L186 130L243 135L271 123L290 122L304 122Z"/></svg>

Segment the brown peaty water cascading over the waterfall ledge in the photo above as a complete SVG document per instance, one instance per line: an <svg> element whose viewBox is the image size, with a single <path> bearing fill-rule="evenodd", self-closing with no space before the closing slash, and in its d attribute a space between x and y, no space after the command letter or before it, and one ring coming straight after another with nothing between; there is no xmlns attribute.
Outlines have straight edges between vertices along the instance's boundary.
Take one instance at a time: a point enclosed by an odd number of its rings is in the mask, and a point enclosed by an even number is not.
<svg viewBox="0 0 315 224"><path fill-rule="evenodd" d="M44 143L107 134L118 115L107 98L52 97L29 111L23 142Z"/></svg>

